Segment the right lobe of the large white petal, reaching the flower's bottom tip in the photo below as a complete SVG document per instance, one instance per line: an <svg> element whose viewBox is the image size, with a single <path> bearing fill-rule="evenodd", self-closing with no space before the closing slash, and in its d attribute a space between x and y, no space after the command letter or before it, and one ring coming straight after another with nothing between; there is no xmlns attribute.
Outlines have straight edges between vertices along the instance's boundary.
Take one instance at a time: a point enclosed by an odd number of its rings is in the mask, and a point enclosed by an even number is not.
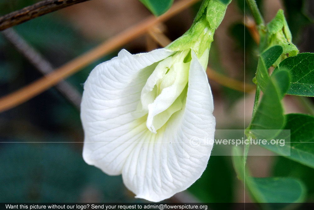
<svg viewBox="0 0 314 210"><path fill-rule="evenodd" d="M188 85L185 109L172 115L157 134L146 133L123 167L123 181L138 198L169 198L191 186L206 168L213 145L202 140L214 139L214 107L207 75L195 54ZM192 138L201 144L193 147Z"/></svg>

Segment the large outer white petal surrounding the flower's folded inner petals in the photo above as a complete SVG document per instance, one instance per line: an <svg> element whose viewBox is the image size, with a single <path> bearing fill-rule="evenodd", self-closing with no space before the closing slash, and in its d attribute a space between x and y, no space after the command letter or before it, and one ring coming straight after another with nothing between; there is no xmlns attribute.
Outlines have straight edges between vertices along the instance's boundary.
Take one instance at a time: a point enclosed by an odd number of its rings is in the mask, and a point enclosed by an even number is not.
<svg viewBox="0 0 314 210"><path fill-rule="evenodd" d="M136 119L131 114L152 70L131 69L138 58L122 54L96 67L85 83L83 156L108 174L122 173L123 182L136 197L158 202L187 189L205 170L213 145L193 147L190 139L214 138L212 94L205 70L192 52L185 106L152 134L146 127L147 115ZM146 66L156 62L150 61Z"/></svg>

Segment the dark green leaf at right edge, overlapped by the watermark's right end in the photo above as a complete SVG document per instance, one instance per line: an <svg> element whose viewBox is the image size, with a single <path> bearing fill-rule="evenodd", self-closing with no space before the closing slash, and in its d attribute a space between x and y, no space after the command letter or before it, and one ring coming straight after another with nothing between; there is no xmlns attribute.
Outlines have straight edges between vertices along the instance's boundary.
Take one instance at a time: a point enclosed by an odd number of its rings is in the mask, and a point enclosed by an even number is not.
<svg viewBox="0 0 314 210"><path fill-rule="evenodd" d="M314 117L305 114L286 115L287 123L285 130L290 130L290 138L287 133L280 133L276 139L290 139L291 143L286 142L281 148L276 145L263 145L279 155L290 155L286 158L295 160L301 164L314 168ZM288 153L289 154L289 153Z"/></svg>

